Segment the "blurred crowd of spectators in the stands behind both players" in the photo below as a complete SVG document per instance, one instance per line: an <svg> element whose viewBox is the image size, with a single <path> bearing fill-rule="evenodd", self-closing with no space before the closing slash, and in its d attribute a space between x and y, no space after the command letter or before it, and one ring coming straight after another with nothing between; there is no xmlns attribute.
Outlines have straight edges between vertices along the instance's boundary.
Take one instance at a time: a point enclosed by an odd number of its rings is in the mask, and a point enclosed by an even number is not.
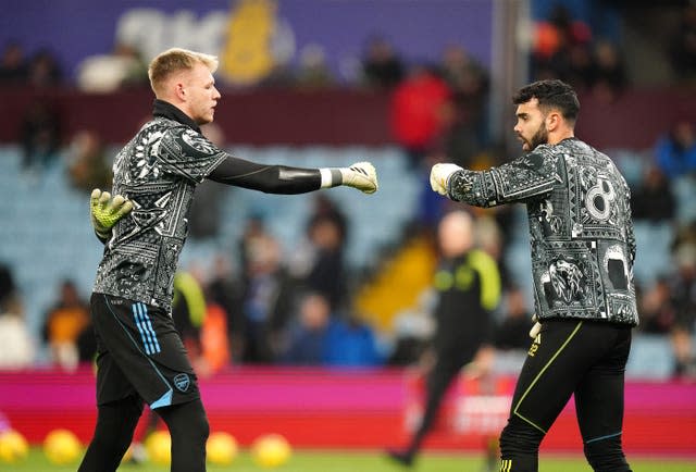
<svg viewBox="0 0 696 472"><path fill-rule="evenodd" d="M679 77L689 80L696 76L696 7L685 8L670 58ZM318 88L338 83L326 66L321 47L306 48L300 59L296 71L275 71L260 86ZM563 8L537 25L531 57L533 78L562 78L611 100L631 85L624 61L617 45L594 37L587 25L573 20ZM104 77L115 82L105 84ZM407 64L388 40L369 38L359 77L359 86L391 94L394 134L412 172L425 176L425 170L443 159L468 167L495 164L500 159L490 157L495 146L486 132L489 75L463 47L446 48L435 64ZM147 84L137 51L125 45L105 57L90 58L80 69L79 79L92 91ZM27 58L21 45L5 45L0 84L48 87L64 82L60 64L48 50ZM696 220L678 221L680 206L691 202L676 195L675 185L687 179L696 188L694 126L688 121L666 124L641 179L632 183L635 220L670 226L674 235L672 269L657 274L648 284L636 281L642 315L638 330L669 336L676 359L674 374L691 376L696 376ZM69 140L66 169L71 183L82 190L109 188L110 164L100 137L88 129L65 137L60 128L60 117L46 103L36 102L26 111L17 136L25 166L46 165ZM433 231L447 210L443 207L447 203L426 187L424 177L424 197L419 214L413 215L415 227L425 233ZM214 189L210 191L207 197L201 187L199 197L212 206ZM500 349L521 349L527 343L530 314L524 294L505 268L505 252L512 239L510 220L508 209L476 213L480 231L487 232L482 238L489 246L485 249L504 274L506 296L499 309L496 344ZM214 233L214 220L191 221L194 237ZM319 197L307 221L306 237L289 256L282 253L277 237L269 232L263 219L254 216L247 222L237 254L221 254L213 268L183 271L176 284L174 311L189 352L197 358L197 368L211 372L228 363L417 362L423 350L422 339L406 340L411 343L406 347L385 348L381 333L352 303L357 282L345 262L349 233L340 210ZM59 287L55 306L46 313L42 339L34 339L22 322L21 298L28 294L18 293L11 268L0 266L0 368L30 364L40 341L49 346L51 361L65 369L91 359L96 347L89 341L87 303L71 281L60 281Z"/></svg>

